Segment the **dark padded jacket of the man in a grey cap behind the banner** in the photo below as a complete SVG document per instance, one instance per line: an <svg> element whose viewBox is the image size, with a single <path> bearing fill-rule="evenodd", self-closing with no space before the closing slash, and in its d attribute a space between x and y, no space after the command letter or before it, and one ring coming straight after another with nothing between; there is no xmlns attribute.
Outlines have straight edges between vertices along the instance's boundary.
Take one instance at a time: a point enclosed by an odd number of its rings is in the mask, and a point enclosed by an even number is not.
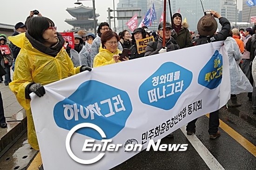
<svg viewBox="0 0 256 170"><path fill-rule="evenodd" d="M158 54L158 51L162 49L162 38L159 37L157 41L156 49L154 49L154 43L153 41L149 42L146 47L145 56L151 56L154 54ZM178 50L180 49L179 45L176 43L174 39L169 39L168 42L165 44L167 47L167 52L172 50Z"/></svg>

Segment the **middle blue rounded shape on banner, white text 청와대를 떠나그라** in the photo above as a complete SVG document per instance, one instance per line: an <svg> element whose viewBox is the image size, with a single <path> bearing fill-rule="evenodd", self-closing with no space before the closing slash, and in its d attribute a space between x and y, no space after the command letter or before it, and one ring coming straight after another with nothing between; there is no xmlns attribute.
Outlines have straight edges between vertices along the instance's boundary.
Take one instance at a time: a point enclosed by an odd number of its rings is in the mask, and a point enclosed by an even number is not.
<svg viewBox="0 0 256 170"><path fill-rule="evenodd" d="M142 103L172 109L182 93L192 82L193 74L188 69L172 62L163 63L139 88Z"/></svg>

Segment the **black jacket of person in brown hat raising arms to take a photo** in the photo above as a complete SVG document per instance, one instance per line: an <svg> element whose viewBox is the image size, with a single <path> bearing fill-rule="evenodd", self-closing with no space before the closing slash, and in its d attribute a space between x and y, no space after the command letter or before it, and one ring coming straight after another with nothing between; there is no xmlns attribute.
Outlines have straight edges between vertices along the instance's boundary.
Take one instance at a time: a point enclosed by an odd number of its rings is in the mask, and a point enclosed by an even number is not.
<svg viewBox="0 0 256 170"><path fill-rule="evenodd" d="M209 38L207 38L205 36L200 36L196 40L196 45L201 45L201 44L207 44L207 43L210 43L210 42L226 40L229 37L229 31L231 29L230 22L229 22L228 19L223 18L223 17L219 19L219 22L222 25L222 30L217 34L214 34L213 36L210 36ZM209 41L209 39L210 39L210 41Z"/></svg>

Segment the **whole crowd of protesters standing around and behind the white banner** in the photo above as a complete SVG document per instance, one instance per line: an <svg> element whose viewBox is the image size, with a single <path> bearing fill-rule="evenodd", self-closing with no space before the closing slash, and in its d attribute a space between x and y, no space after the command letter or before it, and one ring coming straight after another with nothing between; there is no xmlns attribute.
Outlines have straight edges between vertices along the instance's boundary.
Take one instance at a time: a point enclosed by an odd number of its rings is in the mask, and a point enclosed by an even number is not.
<svg viewBox="0 0 256 170"><path fill-rule="evenodd" d="M218 19L222 29L217 30ZM132 33L123 30L117 35L108 23L102 22L97 29L97 36L80 30L74 34L74 49L63 47L65 41L51 19L38 14L34 17L31 11L26 25L19 22L15 31L8 39L0 34L0 44L9 45L11 53L1 52L1 67L6 71L5 85L16 95L17 100L27 111L28 142L33 148L39 149L34 121L30 109L30 96L34 92L39 97L45 94L44 85L78 74L91 71L91 67L100 67L119 63L131 59L148 57L172 50L189 48L194 45L207 44L215 41L225 41L229 56L231 103L232 107L239 107L236 94L248 92L249 100L253 101L253 113L256 113L256 23L253 28L238 31L232 29L228 19L219 13L211 11L203 16L197 25L198 34L189 31L188 24L182 23L182 15L172 16L173 25L161 22L157 31L150 31L148 27L136 28ZM154 36L155 41L149 42L145 52L138 52L136 41ZM165 38L163 38L165 36ZM165 39L165 43L163 43ZM165 44L165 48L162 45ZM128 55L120 57L122 51L128 49ZM15 66L15 69L14 69ZM13 69L13 81L10 69ZM50 75L50 76L49 76ZM237 78L237 75L239 77ZM1 80L0 82L2 82ZM253 85L253 88L252 88ZM0 96L1 97L1 96ZM1 99L1 98L0 98ZM0 100L0 127L6 127L6 121ZM189 122L187 134L195 133L195 122ZM210 113L209 138L220 136L218 131L219 111ZM169 134L168 137L173 137Z"/></svg>

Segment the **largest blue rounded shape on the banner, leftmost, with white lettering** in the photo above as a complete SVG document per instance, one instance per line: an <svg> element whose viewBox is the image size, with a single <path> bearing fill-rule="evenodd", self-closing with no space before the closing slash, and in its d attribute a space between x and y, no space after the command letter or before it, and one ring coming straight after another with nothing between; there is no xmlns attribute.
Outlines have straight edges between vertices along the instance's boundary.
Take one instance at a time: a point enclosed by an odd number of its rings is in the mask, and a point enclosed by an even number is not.
<svg viewBox="0 0 256 170"><path fill-rule="evenodd" d="M73 94L54 106L57 126L71 130L81 123L92 123L101 127L111 139L124 127L132 113L128 94L102 82L83 82ZM101 135L91 128L82 128L77 133L101 140Z"/></svg>

